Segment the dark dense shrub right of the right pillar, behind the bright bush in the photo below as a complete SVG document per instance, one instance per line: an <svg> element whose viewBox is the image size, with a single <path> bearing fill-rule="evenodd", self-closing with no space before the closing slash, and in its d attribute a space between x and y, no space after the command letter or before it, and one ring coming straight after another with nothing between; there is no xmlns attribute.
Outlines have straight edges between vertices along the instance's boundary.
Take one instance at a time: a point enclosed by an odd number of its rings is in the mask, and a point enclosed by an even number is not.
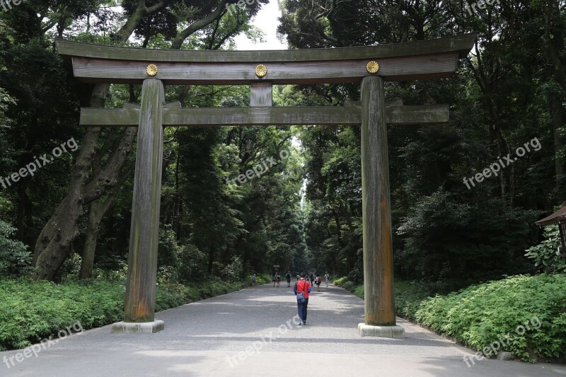
<svg viewBox="0 0 566 377"><path fill-rule="evenodd" d="M395 254L403 277L478 282L526 271L523 257L536 232L536 211L509 209L495 198L464 203L440 191L422 197L398 228L405 247ZM489 236L487 236L489 235Z"/></svg>

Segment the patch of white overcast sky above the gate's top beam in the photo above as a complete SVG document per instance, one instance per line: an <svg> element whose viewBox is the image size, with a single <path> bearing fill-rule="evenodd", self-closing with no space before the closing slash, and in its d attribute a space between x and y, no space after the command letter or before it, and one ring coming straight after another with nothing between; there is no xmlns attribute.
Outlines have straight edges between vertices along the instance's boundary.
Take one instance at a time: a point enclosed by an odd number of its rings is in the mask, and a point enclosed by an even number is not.
<svg viewBox="0 0 566 377"><path fill-rule="evenodd" d="M263 30L265 33L265 43L253 43L246 38L246 35L238 35L235 38L237 50L287 50L287 42L282 44L277 40L277 17L281 16L277 0L270 0L269 4L262 6L258 16L255 16L253 25Z"/></svg>

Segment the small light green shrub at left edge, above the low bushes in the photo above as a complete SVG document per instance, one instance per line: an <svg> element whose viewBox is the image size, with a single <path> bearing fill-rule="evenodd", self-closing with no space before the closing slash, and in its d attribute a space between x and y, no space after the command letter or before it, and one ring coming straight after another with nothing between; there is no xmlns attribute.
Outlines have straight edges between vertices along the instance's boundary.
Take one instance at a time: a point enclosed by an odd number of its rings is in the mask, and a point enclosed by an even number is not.
<svg viewBox="0 0 566 377"><path fill-rule="evenodd" d="M33 255L28 246L20 241L11 240L16 231L9 224L0 220L0 274L22 276L33 273L31 267Z"/></svg>

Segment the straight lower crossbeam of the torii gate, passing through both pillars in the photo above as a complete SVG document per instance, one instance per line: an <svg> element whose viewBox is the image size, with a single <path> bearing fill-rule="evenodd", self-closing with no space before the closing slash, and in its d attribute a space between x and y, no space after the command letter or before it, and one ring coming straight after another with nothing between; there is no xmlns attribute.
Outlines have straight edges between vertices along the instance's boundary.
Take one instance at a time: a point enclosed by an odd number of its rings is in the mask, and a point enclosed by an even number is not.
<svg viewBox="0 0 566 377"><path fill-rule="evenodd" d="M449 121L448 105L388 105L389 124L429 124ZM139 109L81 109L81 125L137 127ZM362 124L362 108L163 108L163 126L272 126Z"/></svg>

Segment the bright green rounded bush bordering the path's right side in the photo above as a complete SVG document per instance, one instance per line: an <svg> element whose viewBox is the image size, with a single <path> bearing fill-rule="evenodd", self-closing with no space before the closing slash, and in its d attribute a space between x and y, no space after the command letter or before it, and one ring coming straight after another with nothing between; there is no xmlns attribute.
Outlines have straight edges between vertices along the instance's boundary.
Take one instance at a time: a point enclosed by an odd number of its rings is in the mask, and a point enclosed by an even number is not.
<svg viewBox="0 0 566 377"><path fill-rule="evenodd" d="M566 275L519 275L427 298L416 319L481 350L509 333L502 346L524 361L560 359L566 351ZM536 323L540 321L540 328ZM523 335L519 326L531 328Z"/></svg>

